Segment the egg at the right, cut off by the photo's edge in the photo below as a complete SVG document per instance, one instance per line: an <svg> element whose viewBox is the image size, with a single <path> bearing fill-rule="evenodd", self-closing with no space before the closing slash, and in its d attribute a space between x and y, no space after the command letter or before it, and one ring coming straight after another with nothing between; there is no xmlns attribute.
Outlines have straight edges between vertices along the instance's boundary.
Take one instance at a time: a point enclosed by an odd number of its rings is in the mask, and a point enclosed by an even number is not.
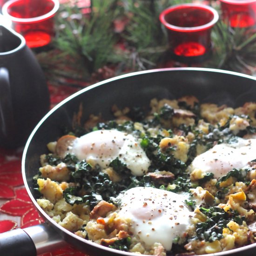
<svg viewBox="0 0 256 256"><path fill-rule="evenodd" d="M195 157L189 169L200 169L202 173L212 172L215 178L226 175L233 168L243 168L256 159L256 139L237 138L237 142L215 145Z"/></svg>

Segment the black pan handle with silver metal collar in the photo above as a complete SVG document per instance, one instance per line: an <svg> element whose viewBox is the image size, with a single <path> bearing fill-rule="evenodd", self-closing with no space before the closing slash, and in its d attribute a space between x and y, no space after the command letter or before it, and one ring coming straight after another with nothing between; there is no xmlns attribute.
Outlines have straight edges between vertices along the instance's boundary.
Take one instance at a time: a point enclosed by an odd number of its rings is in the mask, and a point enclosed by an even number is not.
<svg viewBox="0 0 256 256"><path fill-rule="evenodd" d="M62 247L66 242L47 223L0 234L0 255L36 256Z"/></svg>

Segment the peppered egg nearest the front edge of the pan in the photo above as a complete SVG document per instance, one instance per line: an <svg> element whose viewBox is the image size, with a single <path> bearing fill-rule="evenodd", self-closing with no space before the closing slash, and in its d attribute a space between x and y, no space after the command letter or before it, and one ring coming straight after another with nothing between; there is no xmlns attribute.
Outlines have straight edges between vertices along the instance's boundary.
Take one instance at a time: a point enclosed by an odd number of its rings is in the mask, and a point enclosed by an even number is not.
<svg viewBox="0 0 256 256"><path fill-rule="evenodd" d="M161 243L170 250L173 239L184 238L191 226L193 212L185 199L166 190L137 187L121 195L119 215L131 220L132 232L146 245Z"/></svg>

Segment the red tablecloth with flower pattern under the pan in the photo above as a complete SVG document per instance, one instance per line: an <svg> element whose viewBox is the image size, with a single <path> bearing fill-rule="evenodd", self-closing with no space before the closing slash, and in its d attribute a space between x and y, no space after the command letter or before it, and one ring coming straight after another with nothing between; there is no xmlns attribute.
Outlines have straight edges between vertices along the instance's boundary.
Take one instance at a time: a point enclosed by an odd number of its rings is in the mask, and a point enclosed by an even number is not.
<svg viewBox="0 0 256 256"><path fill-rule="evenodd" d="M77 91L71 87L49 86L51 107ZM23 148L0 148L0 233L40 224L39 216L31 202L21 175ZM87 256L71 246L44 253L42 256Z"/></svg>

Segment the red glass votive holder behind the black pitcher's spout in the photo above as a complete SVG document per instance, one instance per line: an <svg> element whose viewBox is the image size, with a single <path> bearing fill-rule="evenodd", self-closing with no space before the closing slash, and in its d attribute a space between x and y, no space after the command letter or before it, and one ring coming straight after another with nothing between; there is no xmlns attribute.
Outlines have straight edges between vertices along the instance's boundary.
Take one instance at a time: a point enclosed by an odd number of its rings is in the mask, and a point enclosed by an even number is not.
<svg viewBox="0 0 256 256"><path fill-rule="evenodd" d="M12 21L13 29L23 35L30 48L43 47L54 36L54 15L58 0L9 0L2 13Z"/></svg>

